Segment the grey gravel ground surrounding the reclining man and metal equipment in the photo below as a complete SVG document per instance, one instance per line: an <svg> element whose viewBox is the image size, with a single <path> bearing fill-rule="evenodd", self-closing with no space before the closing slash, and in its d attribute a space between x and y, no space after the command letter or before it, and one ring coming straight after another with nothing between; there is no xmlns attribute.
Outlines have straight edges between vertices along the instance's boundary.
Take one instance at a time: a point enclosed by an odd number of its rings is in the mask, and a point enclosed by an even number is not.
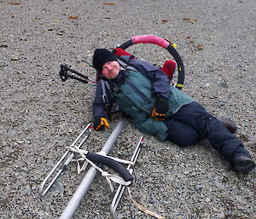
<svg viewBox="0 0 256 219"><path fill-rule="evenodd" d="M186 67L184 92L218 117L238 125L236 135L256 157L254 0L0 1L1 163L0 218L57 218L84 174L76 164L44 198L38 186L91 121L94 88L62 83L60 64L95 77L84 61L94 49L114 48L132 36L154 34L177 43ZM128 51L161 65L165 49ZM111 128L93 133L99 151L114 126L125 128L113 156L130 158L141 132L115 115ZM145 136L131 187L139 203L166 218L256 218L255 171L237 175L206 140L179 148ZM74 218L111 218L108 183L96 176ZM152 218L125 195L117 218Z"/></svg>

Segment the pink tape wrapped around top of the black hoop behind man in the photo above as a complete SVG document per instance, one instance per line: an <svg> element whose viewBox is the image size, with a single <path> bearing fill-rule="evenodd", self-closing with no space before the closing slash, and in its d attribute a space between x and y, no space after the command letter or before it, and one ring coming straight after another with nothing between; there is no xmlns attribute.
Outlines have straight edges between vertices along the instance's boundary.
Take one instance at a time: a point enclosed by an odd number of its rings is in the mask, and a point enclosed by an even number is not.
<svg viewBox="0 0 256 219"><path fill-rule="evenodd" d="M161 37L157 37L154 35L141 35L141 36L135 36L131 37L132 43L154 43L157 44L163 48L167 48L169 46L169 42L167 42L165 39Z"/></svg>

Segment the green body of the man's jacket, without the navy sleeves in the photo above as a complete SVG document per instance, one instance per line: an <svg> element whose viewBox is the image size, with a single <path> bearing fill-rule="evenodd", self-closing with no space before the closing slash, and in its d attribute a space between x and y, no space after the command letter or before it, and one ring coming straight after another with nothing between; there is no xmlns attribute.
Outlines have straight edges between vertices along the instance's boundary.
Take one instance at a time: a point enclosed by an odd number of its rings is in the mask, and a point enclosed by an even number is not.
<svg viewBox="0 0 256 219"><path fill-rule="evenodd" d="M154 135L160 141L166 139L167 127L163 121L155 121L151 117L155 96L152 82L140 72L127 72L125 83L119 86L120 92L113 92L113 99L120 109L131 118L137 129L147 135ZM166 117L171 116L183 105L193 101L179 89L170 86L168 99L169 111Z"/></svg>

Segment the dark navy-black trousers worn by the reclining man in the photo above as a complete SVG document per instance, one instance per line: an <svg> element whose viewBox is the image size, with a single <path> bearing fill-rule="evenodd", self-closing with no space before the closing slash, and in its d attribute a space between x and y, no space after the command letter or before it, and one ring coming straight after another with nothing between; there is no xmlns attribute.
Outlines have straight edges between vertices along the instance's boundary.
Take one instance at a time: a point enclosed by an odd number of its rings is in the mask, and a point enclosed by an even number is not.
<svg viewBox="0 0 256 219"><path fill-rule="evenodd" d="M181 107L166 119L167 140L180 147L189 146L202 138L207 138L213 148L221 153L231 164L233 154L249 156L242 142L224 127L218 118L213 117L197 102Z"/></svg>

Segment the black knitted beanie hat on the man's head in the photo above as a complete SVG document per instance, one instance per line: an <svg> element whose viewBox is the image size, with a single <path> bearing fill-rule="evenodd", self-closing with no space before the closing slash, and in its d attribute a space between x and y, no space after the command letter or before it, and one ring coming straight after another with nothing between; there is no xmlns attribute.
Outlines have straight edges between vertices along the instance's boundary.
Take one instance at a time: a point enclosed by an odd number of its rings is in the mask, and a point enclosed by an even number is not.
<svg viewBox="0 0 256 219"><path fill-rule="evenodd" d="M95 49L92 65L96 70L102 72L102 66L108 61L117 61L117 58L108 49Z"/></svg>

